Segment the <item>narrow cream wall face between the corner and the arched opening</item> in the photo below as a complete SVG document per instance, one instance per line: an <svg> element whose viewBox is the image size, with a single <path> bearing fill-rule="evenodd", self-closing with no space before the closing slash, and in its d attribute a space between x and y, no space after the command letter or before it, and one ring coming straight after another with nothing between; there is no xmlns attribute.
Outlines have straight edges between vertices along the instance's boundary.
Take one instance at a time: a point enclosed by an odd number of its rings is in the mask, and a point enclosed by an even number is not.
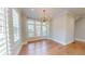
<svg viewBox="0 0 85 64"><path fill-rule="evenodd" d="M72 14L68 13L67 14L67 39L66 39L66 42L67 43L70 43L70 42L73 42L74 41L74 22L75 22L75 18Z"/></svg>

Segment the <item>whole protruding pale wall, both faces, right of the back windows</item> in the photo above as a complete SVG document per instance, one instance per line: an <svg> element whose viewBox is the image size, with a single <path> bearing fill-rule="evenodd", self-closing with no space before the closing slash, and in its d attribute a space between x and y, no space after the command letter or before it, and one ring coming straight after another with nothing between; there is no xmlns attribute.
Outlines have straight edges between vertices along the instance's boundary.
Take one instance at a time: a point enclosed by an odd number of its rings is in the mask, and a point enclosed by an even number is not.
<svg viewBox="0 0 85 64"><path fill-rule="evenodd" d="M74 18L72 15L61 13L52 21L52 39L68 44L74 41Z"/></svg>

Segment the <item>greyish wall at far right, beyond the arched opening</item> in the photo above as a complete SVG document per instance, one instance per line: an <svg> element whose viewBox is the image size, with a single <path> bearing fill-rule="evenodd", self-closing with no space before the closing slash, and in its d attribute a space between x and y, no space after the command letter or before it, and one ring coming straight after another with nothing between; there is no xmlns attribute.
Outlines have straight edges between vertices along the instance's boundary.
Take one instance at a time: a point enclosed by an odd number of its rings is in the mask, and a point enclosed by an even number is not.
<svg viewBox="0 0 85 64"><path fill-rule="evenodd" d="M85 16L75 22L75 40L85 41Z"/></svg>

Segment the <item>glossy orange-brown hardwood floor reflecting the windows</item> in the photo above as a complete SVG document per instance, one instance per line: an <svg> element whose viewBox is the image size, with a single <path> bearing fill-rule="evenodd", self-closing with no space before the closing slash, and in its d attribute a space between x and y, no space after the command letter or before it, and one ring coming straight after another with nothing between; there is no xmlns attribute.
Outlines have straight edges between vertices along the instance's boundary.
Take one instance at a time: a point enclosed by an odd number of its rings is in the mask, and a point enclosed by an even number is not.
<svg viewBox="0 0 85 64"><path fill-rule="evenodd" d="M85 55L85 43L61 46L53 40L39 40L23 46L18 55Z"/></svg>

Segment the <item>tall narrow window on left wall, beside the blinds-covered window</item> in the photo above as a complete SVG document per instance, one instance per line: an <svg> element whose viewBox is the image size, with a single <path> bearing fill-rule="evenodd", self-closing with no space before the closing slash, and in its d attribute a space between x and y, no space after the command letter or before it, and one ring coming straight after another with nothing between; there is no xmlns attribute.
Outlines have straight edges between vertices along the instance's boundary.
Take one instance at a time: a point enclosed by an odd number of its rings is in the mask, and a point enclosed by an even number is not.
<svg viewBox="0 0 85 64"><path fill-rule="evenodd" d="M19 16L16 10L13 9L13 27L14 27L14 42L20 40L19 35Z"/></svg>

